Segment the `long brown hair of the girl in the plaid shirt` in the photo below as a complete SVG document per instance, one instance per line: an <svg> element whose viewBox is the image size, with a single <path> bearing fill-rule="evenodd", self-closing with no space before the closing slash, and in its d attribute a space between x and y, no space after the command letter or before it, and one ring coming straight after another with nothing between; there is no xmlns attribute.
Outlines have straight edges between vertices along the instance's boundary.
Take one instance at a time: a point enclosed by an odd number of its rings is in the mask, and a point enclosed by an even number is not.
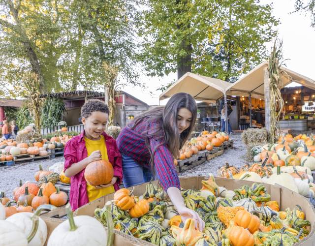
<svg viewBox="0 0 315 246"><path fill-rule="evenodd" d="M180 134L177 128L177 116L181 108L186 108L191 112L192 120L189 127ZM197 104L195 100L190 94L181 92L174 94L168 100L165 107L156 107L136 117L134 121L129 125L129 127L131 129L134 129L136 125L144 119L147 119L148 123L157 121L161 122L160 127L157 127L154 131L150 130L150 132L143 132L143 134L146 135L146 143L151 154L151 165L153 167L153 156L156 150L153 150L152 152L149 144L149 139L152 137L164 137L164 142L162 144L166 144L170 152L173 154L174 158L177 158L179 150L187 141L194 127L196 117Z"/></svg>

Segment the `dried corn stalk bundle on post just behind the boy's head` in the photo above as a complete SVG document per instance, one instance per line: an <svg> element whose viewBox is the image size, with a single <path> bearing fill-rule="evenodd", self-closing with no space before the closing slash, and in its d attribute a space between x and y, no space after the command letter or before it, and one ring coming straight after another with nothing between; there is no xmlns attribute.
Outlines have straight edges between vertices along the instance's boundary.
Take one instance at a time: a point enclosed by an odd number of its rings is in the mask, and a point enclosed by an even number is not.
<svg viewBox="0 0 315 246"><path fill-rule="evenodd" d="M103 62L104 69L104 88L108 92L108 109L109 109L109 120L108 125L114 124L115 118L115 91L117 88L117 75L118 68L110 66L107 62Z"/></svg>

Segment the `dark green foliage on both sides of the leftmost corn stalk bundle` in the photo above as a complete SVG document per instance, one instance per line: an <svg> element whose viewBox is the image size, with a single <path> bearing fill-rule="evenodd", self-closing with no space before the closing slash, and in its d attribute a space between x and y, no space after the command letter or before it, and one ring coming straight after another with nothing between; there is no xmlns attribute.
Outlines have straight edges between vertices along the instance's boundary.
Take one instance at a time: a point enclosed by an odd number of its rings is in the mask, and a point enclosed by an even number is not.
<svg viewBox="0 0 315 246"><path fill-rule="evenodd" d="M62 99L47 98L41 111L41 126L43 128L57 126L58 122L62 119L64 110L65 107ZM23 105L16 112L16 123L20 129L23 129L25 126L33 123L30 110L27 105Z"/></svg>

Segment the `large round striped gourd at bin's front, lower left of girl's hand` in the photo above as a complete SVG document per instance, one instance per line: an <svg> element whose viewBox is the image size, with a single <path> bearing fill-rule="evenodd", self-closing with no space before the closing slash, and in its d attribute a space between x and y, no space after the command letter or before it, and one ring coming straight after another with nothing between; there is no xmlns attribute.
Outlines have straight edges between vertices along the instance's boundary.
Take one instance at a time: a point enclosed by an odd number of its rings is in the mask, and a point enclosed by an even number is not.
<svg viewBox="0 0 315 246"><path fill-rule="evenodd" d="M146 240L152 244L158 245L162 236L163 228L155 219L141 218L136 231L139 239Z"/></svg>

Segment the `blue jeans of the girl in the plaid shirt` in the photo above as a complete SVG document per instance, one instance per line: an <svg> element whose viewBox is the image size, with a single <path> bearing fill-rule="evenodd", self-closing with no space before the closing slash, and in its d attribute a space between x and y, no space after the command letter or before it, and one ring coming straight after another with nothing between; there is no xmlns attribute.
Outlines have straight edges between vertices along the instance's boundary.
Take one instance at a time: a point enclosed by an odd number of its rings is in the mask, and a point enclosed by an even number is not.
<svg viewBox="0 0 315 246"><path fill-rule="evenodd" d="M122 154L122 157L123 183L126 188L151 181L152 173L150 169L141 166L126 154Z"/></svg>

